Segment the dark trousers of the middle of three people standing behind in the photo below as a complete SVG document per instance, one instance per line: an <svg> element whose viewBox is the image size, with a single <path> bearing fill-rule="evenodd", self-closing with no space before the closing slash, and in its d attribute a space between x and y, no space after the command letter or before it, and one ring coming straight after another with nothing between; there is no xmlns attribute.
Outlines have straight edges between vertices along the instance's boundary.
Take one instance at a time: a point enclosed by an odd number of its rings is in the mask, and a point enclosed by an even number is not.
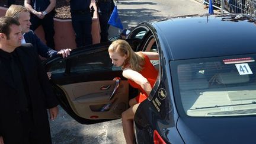
<svg viewBox="0 0 256 144"><path fill-rule="evenodd" d="M91 12L84 14L72 14L72 26L75 31L76 47L82 47L92 44L92 18Z"/></svg>

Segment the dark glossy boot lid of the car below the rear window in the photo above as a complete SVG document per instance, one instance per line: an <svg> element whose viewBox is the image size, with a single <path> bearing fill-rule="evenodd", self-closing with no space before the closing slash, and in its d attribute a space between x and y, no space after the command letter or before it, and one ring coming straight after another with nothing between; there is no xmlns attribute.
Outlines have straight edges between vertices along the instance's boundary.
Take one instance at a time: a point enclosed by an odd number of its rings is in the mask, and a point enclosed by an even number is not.
<svg viewBox="0 0 256 144"><path fill-rule="evenodd" d="M185 143L253 143L255 119L255 116L182 118L177 127Z"/></svg>

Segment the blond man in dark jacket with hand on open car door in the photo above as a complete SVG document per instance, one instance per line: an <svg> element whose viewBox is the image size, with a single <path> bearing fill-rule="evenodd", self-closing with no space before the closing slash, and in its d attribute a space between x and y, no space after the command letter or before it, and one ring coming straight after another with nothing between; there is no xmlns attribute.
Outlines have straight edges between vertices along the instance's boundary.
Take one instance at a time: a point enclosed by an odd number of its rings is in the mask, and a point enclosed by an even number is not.
<svg viewBox="0 0 256 144"><path fill-rule="evenodd" d="M56 50L47 47L46 44L44 44L43 41L41 41L39 37L37 37L36 34L30 30L30 12L27 8L21 5L11 5L11 7L7 9L5 16L16 18L20 22L24 36L22 43L33 44L33 47L36 49L38 55L46 58L55 55L61 55L62 57L67 57L70 55L71 49L62 49L57 52Z"/></svg>

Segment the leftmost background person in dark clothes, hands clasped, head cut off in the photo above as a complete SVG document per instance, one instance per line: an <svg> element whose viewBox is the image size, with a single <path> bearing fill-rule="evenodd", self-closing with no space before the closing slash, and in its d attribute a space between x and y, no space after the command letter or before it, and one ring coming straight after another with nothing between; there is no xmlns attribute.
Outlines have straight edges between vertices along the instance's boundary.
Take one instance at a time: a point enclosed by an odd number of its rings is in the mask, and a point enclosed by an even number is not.
<svg viewBox="0 0 256 144"><path fill-rule="evenodd" d="M40 25L44 30L46 45L55 49L54 21L56 0L25 0L24 5L31 12L31 30L35 31Z"/></svg>

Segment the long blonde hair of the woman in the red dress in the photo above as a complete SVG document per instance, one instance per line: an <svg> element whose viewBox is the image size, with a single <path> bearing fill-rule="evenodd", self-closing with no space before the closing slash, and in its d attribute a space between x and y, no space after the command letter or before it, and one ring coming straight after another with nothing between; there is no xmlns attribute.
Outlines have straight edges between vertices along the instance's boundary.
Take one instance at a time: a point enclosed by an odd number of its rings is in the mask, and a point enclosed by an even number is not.
<svg viewBox="0 0 256 144"><path fill-rule="evenodd" d="M127 55L127 59L122 65L122 69L126 68L127 65L130 65L134 71L140 72L145 65L143 54L135 53L130 44L125 40L116 40L113 41L108 47L108 52L117 52L120 56Z"/></svg>

